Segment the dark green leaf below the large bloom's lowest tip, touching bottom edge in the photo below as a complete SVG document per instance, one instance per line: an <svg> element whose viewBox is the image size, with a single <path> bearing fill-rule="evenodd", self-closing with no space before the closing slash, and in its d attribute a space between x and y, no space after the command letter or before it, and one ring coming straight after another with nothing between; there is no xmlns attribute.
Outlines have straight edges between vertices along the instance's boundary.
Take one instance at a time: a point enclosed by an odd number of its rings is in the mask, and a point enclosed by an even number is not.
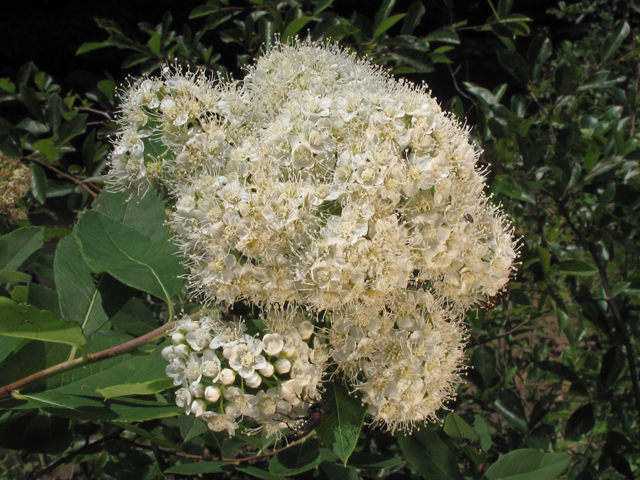
<svg viewBox="0 0 640 480"><path fill-rule="evenodd" d="M423 428L412 435L396 434L405 458L429 480L462 480L456 457L438 435Z"/></svg>

